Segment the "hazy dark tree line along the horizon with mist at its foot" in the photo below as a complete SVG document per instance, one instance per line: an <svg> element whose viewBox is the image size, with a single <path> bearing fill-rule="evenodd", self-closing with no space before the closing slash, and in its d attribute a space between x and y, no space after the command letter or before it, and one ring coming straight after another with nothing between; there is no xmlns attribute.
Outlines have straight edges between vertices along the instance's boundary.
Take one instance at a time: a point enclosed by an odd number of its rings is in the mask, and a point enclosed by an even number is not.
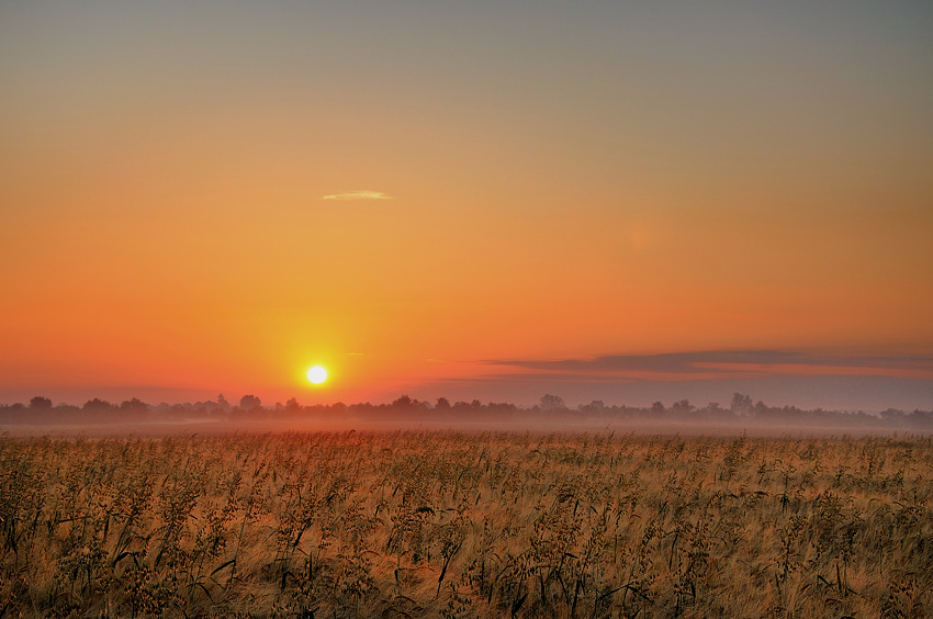
<svg viewBox="0 0 933 619"><path fill-rule="evenodd" d="M119 404L92 398L81 406L53 405L45 396L35 396L29 404L0 405L0 424L5 425L80 425L133 424L177 421L237 421L250 419L360 419L408 421L528 421L557 423L606 421L685 421L722 423L741 421L751 425L842 426L906 429L933 429L933 410L911 412L888 408L880 414L797 406L769 406L753 401L749 395L734 393L728 406L711 402L696 406L689 399L670 405L654 402L650 406L608 405L594 399L588 404L570 407L558 395L544 394L533 406L519 406L504 402L450 402L446 397L435 401L416 399L402 395L386 404L314 404L303 405L292 397L285 403L263 406L251 394L233 404L220 394L213 401L183 404L147 404L133 397Z"/></svg>

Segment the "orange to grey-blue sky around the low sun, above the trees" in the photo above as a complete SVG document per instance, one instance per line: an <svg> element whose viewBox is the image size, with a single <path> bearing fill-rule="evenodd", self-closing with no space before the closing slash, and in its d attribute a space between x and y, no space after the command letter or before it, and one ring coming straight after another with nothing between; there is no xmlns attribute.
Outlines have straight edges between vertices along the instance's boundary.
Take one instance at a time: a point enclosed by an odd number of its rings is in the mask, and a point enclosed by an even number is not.
<svg viewBox="0 0 933 619"><path fill-rule="evenodd" d="M931 32L0 0L0 402L933 408Z"/></svg>

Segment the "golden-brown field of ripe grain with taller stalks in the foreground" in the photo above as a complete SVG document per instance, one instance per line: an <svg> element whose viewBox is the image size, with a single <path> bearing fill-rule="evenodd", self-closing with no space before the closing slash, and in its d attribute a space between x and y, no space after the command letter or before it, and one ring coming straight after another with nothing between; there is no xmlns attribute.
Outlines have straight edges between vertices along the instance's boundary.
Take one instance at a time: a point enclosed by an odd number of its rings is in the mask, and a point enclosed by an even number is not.
<svg viewBox="0 0 933 619"><path fill-rule="evenodd" d="M0 617L930 617L933 439L0 439Z"/></svg>

